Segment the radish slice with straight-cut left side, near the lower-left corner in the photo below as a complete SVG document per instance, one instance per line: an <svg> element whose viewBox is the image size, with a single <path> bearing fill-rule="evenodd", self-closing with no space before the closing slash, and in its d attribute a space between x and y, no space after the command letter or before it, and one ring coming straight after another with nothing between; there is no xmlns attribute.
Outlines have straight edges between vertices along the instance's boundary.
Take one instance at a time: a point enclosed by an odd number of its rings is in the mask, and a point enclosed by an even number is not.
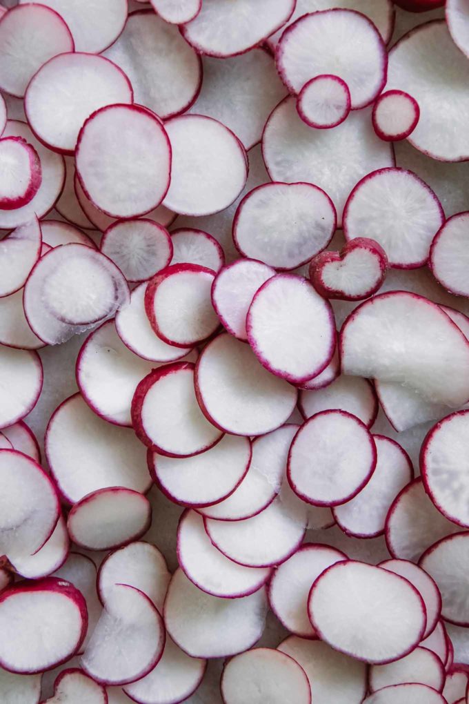
<svg viewBox="0 0 469 704"><path fill-rule="evenodd" d="M165 624L143 591L115 584L82 656L82 667L103 684L129 684L158 663Z"/></svg>

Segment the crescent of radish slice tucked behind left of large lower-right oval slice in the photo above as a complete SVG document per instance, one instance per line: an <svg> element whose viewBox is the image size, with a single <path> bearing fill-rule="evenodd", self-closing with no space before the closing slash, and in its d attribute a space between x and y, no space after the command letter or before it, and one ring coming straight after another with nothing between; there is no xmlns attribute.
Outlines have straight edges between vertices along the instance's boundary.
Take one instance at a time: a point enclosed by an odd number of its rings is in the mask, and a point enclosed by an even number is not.
<svg viewBox="0 0 469 704"><path fill-rule="evenodd" d="M340 560L347 560L347 555L327 545L306 543L276 568L269 583L269 603L290 633L317 638L308 616L309 590L327 567Z"/></svg>

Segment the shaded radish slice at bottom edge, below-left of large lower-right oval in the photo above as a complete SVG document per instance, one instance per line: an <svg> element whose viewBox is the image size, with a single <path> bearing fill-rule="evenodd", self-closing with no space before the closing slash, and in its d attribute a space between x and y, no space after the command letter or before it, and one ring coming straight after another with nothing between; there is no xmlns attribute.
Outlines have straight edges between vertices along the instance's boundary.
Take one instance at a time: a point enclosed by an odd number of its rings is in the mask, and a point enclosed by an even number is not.
<svg viewBox="0 0 469 704"><path fill-rule="evenodd" d="M366 665L321 641L288 636L278 646L306 672L313 702L361 704L366 694Z"/></svg>

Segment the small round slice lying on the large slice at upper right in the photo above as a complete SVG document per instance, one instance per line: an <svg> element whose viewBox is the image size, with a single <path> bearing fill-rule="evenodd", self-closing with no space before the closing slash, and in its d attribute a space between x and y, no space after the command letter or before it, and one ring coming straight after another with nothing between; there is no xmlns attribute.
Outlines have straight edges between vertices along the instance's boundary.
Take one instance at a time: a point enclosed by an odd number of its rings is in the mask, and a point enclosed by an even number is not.
<svg viewBox="0 0 469 704"><path fill-rule="evenodd" d="M337 127L349 115L350 91L347 83L334 75L319 75L304 84L297 99L303 122L318 130Z"/></svg>

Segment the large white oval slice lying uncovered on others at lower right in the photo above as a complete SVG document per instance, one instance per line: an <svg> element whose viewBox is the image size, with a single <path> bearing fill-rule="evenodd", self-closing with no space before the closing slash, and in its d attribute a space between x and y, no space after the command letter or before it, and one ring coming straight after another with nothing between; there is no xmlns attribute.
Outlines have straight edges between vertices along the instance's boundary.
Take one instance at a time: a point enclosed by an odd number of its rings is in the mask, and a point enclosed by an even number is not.
<svg viewBox="0 0 469 704"><path fill-rule="evenodd" d="M411 653L425 631L425 606L410 582L354 560L316 579L308 610L321 640L371 665Z"/></svg>

